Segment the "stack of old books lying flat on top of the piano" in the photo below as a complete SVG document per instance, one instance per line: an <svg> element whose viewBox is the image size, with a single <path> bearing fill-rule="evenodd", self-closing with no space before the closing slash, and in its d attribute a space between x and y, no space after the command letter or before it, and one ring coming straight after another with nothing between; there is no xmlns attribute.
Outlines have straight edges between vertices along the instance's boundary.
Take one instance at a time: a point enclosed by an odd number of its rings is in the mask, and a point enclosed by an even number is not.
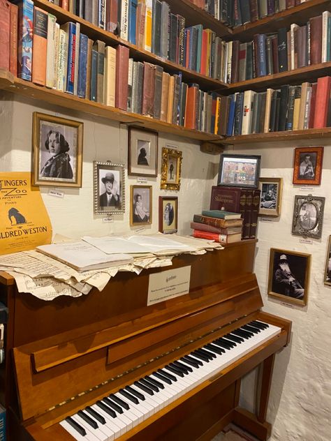
<svg viewBox="0 0 331 441"><path fill-rule="evenodd" d="M222 244L232 244L242 239L242 223L240 213L223 210L205 210L195 214L191 228L193 237L209 239Z"/></svg>

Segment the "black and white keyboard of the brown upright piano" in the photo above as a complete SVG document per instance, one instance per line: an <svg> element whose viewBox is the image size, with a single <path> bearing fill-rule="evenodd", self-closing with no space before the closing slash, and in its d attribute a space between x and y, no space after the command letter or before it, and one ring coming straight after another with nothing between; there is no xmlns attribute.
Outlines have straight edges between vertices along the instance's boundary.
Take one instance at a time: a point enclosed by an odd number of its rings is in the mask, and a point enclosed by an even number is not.
<svg viewBox="0 0 331 441"><path fill-rule="evenodd" d="M61 421L78 441L112 441L270 340L281 328L254 320Z"/></svg>

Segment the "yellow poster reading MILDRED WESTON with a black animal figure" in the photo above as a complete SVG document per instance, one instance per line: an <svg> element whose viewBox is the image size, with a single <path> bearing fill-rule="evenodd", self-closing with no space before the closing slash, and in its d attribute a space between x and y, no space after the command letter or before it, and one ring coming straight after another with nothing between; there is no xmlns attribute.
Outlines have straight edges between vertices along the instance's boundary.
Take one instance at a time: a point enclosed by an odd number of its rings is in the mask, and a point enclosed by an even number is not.
<svg viewBox="0 0 331 441"><path fill-rule="evenodd" d="M52 225L30 172L0 172L0 255L50 244Z"/></svg>

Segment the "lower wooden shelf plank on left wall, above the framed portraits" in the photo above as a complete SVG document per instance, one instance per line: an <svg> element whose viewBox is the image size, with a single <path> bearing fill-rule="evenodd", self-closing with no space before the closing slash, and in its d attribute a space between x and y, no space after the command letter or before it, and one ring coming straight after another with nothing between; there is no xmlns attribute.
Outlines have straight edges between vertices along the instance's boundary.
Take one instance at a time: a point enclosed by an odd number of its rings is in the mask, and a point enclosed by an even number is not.
<svg viewBox="0 0 331 441"><path fill-rule="evenodd" d="M13 75L10 73L8 74L6 70L0 70L0 88L6 89L14 94L35 98L47 103L66 107L68 109L87 112L89 114L98 115L99 117L112 119L114 121L121 121L127 124L139 124L142 127L151 128L153 130L158 130L165 133L173 133L178 136L189 137L193 140L211 142L221 141L221 137L219 135L213 135L212 133L205 133L200 132L199 130L192 130L182 126L176 126L175 124L165 123L159 119L125 112L124 110L120 110L115 107L109 107L100 103L95 103L94 101L78 98L78 96L64 94L64 92L54 89L47 89L47 87L39 87L29 81L20 80L19 78L13 77Z"/></svg>

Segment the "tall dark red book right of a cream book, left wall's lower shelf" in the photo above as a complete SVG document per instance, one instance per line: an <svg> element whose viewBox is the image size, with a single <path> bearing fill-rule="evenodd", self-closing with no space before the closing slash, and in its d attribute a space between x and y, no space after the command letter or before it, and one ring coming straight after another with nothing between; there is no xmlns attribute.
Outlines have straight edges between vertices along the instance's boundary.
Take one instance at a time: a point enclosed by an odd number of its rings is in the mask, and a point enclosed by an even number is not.
<svg viewBox="0 0 331 441"><path fill-rule="evenodd" d="M118 45L116 49L115 84L115 107L126 110L128 106L128 47L122 45Z"/></svg>

